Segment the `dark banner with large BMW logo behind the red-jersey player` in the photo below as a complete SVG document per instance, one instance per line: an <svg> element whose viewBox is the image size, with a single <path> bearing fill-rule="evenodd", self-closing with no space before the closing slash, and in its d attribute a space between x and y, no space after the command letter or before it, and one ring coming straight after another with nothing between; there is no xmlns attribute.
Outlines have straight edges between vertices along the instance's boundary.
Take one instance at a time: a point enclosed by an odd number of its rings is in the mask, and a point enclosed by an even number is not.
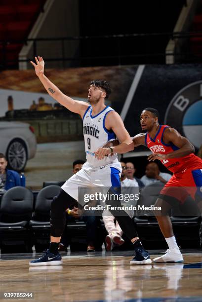
<svg viewBox="0 0 202 302"><path fill-rule="evenodd" d="M138 68L130 69L135 79ZM160 113L161 124L178 130L198 150L202 145L201 70L200 64L144 66L138 84L134 86L131 102L124 112L124 124L130 135L141 132L141 111L153 107ZM116 107L120 110L119 102L114 104L115 110Z"/></svg>

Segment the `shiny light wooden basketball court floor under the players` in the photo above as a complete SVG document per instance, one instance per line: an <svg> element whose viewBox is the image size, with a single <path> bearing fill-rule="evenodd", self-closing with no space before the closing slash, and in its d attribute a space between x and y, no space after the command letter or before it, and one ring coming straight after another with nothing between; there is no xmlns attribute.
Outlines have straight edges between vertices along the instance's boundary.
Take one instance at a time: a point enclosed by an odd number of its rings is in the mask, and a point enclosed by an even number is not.
<svg viewBox="0 0 202 302"><path fill-rule="evenodd" d="M0 301L4 293L32 293L9 301L202 302L201 250L182 252L184 264L134 266L132 251L62 252L55 266L29 266L41 254L1 254Z"/></svg>

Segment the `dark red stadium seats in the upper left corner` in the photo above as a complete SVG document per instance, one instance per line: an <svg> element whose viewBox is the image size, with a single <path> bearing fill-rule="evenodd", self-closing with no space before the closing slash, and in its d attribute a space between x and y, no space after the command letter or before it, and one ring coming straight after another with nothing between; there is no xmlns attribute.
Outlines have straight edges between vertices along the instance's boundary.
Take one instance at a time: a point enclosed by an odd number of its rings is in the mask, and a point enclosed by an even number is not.
<svg viewBox="0 0 202 302"><path fill-rule="evenodd" d="M0 0L0 60L6 62L6 65L14 67L23 40L28 37L44 2Z"/></svg>

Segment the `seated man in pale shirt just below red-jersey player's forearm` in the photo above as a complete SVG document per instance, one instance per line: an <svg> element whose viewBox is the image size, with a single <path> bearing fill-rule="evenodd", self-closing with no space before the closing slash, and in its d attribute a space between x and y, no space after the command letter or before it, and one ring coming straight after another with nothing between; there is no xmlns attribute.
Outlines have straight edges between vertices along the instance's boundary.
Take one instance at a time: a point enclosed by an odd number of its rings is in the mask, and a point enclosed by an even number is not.
<svg viewBox="0 0 202 302"><path fill-rule="evenodd" d="M162 173L159 170L159 166L156 162L150 162L146 166L145 175L141 178L141 181L145 186L154 184L156 182L162 182L166 184L172 175L169 173Z"/></svg>

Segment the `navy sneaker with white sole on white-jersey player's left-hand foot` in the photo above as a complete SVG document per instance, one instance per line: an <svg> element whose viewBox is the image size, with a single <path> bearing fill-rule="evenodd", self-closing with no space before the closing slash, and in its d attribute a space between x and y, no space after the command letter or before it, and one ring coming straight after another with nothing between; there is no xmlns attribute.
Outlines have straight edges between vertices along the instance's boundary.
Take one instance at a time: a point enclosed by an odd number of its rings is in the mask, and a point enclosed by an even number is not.
<svg viewBox="0 0 202 302"><path fill-rule="evenodd" d="M58 253L57 255L50 253L47 250L39 259L35 259L29 262L31 266L37 265L61 265L62 257Z"/></svg>

